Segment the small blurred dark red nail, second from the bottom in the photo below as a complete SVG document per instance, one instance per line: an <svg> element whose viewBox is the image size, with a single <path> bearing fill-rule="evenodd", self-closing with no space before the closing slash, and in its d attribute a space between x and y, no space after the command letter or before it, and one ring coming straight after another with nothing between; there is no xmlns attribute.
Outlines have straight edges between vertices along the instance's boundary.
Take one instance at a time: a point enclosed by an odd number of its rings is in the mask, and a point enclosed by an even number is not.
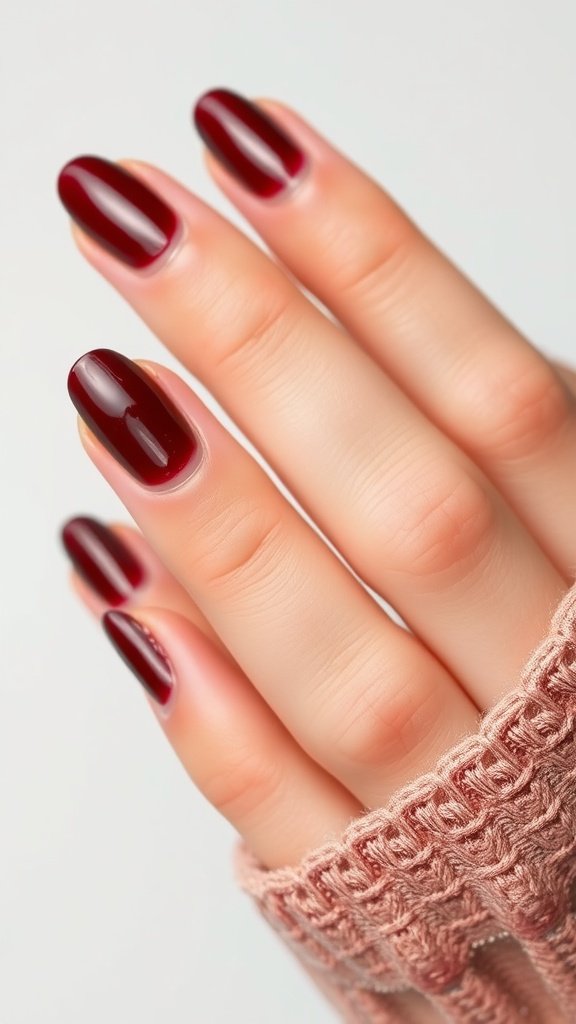
<svg viewBox="0 0 576 1024"><path fill-rule="evenodd" d="M74 568L107 604L122 604L145 580L131 551L108 526L90 516L65 523L61 541Z"/></svg>

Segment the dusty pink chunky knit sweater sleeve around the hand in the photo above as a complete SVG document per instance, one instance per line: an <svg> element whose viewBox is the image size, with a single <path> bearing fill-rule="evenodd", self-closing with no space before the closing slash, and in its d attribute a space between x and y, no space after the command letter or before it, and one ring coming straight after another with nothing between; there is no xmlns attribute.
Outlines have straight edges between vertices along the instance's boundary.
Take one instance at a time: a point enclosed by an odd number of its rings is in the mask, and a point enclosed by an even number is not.
<svg viewBox="0 0 576 1024"><path fill-rule="evenodd" d="M296 867L240 842L235 871L351 1024L574 1024L576 583L477 734Z"/></svg>

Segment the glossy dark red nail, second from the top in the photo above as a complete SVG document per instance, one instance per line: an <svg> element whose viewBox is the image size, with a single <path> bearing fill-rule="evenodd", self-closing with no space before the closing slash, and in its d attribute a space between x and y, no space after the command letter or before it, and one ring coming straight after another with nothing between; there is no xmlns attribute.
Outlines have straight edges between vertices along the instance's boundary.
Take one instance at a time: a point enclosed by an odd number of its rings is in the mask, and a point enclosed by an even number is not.
<svg viewBox="0 0 576 1024"><path fill-rule="evenodd" d="M119 164L77 157L58 176L58 195L92 239L133 267L150 266L174 238L178 219L160 196Z"/></svg>

